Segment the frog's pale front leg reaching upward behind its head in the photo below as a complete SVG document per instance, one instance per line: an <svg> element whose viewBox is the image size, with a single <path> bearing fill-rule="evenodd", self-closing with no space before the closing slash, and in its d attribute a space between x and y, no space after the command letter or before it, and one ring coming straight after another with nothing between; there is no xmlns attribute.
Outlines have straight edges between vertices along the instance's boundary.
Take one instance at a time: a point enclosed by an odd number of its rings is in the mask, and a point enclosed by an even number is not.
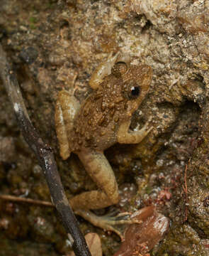
<svg viewBox="0 0 209 256"><path fill-rule="evenodd" d="M92 89L98 89L99 84L101 84L103 81L103 78L106 77L106 75L111 74L111 68L113 68L113 65L115 65L116 61L118 60L118 55L119 53L116 53L115 55L111 53L108 56L108 59L100 63L96 70L94 70L94 73L91 75L91 79L89 80L89 85Z"/></svg>

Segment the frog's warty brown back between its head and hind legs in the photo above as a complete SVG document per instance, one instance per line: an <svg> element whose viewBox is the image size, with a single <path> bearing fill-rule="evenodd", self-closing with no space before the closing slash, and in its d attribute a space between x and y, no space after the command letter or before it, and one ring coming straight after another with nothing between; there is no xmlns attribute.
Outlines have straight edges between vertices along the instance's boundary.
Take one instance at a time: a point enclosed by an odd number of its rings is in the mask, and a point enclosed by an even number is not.
<svg viewBox="0 0 209 256"><path fill-rule="evenodd" d="M113 78L110 79L111 83L106 79L105 85L95 90L77 112L72 132L69 134L72 151L77 152L82 149L103 151L116 143L125 101L120 97L118 80L115 80L115 86L111 87ZM110 86L107 86L108 84Z"/></svg>

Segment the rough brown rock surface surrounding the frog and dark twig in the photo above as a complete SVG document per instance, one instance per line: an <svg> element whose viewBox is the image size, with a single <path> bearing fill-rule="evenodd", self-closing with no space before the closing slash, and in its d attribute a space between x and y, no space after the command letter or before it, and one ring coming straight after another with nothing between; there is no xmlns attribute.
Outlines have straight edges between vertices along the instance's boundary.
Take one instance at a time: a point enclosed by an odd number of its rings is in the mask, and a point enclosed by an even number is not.
<svg viewBox="0 0 209 256"><path fill-rule="evenodd" d="M169 235L154 247L154 255L208 255L208 17L208 0L1 0L1 43L18 74L33 124L55 149L68 196L95 185L75 156L60 159L54 124L57 92L74 88L77 99L84 100L94 68L118 50L132 64L152 66L149 95L131 128L140 129L150 117L153 131L139 145L106 151L119 188L135 187L135 196L130 191L125 203L98 213L154 204L171 220ZM5 149L0 192L50 200L1 81L0 137ZM50 208L1 201L0 256L28 255L30 250L33 255L66 255L67 235L55 215ZM101 235L104 255L118 250L117 237L79 220L84 233ZM43 231L47 227L49 233Z"/></svg>

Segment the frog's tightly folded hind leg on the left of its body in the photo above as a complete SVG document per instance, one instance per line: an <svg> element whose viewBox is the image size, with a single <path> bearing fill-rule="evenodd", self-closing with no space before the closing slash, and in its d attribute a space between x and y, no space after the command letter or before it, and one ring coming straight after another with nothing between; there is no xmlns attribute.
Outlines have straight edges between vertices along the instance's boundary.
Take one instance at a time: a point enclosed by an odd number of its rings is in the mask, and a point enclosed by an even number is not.
<svg viewBox="0 0 209 256"><path fill-rule="evenodd" d="M64 160L69 157L72 151L67 135L72 131L74 116L78 112L79 107L79 101L70 92L62 90L59 93L55 106L55 127L60 144L60 156Z"/></svg>

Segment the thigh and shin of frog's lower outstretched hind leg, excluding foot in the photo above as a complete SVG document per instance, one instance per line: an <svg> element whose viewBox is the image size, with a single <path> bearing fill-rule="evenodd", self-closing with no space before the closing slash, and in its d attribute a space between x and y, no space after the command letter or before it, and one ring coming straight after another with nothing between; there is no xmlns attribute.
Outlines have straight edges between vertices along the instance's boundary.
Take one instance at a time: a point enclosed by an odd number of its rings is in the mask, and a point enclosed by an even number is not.
<svg viewBox="0 0 209 256"><path fill-rule="evenodd" d="M113 170L103 153L84 152L79 154L79 159L81 159L86 171L100 189L74 196L70 200L72 208L98 209L118 203L118 184Z"/></svg>

